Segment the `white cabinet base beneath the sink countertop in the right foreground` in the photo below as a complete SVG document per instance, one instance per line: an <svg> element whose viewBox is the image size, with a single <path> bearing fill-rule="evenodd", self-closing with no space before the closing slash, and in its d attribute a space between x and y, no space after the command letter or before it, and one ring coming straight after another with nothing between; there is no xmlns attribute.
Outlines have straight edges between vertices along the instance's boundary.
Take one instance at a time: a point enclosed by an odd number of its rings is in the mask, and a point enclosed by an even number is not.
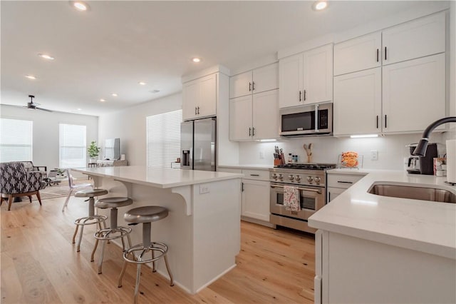
<svg viewBox="0 0 456 304"><path fill-rule="evenodd" d="M454 259L327 230L315 238L315 303L456 303Z"/></svg>

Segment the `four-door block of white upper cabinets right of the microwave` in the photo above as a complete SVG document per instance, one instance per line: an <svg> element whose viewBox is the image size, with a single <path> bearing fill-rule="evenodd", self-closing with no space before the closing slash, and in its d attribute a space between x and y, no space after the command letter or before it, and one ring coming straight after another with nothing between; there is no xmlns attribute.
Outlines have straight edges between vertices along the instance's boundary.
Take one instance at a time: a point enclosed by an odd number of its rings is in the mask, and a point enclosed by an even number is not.
<svg viewBox="0 0 456 304"><path fill-rule="evenodd" d="M446 113L445 14L336 44L334 71L334 135L423 131Z"/></svg>

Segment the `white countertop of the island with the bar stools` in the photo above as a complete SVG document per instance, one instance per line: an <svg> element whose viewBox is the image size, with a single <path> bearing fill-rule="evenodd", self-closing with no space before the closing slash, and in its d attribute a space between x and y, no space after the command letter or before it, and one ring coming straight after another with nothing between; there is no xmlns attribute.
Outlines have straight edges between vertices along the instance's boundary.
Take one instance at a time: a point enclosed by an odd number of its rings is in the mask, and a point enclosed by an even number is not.
<svg viewBox="0 0 456 304"><path fill-rule="evenodd" d="M146 166L120 166L72 169L90 176L103 176L118 181L138 183L157 188L172 188L242 178L242 174L214 171L182 170L172 168L147 168Z"/></svg>

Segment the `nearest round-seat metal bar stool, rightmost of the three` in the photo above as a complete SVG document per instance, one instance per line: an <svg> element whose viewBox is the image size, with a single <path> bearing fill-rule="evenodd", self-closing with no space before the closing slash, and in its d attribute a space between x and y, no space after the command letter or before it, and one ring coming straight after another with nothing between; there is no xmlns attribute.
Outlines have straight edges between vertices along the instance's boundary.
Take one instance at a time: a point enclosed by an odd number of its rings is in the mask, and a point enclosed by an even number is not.
<svg viewBox="0 0 456 304"><path fill-rule="evenodd" d="M123 259L125 260L125 262L123 263L122 273L120 273L118 285L118 287L122 287L122 278L125 273L125 268L127 268L127 263L136 263L138 265L138 268L136 271L135 303L138 303L141 264L152 262L152 271L155 272L155 261L160 258L165 258L166 270L168 272L168 275L170 275L170 285L174 286L174 280L172 279L170 266L168 265L167 245L165 245L165 243L152 242L150 240L150 223L160 221L162 218L166 218L167 216L167 208L159 206L145 206L133 208L130 211L127 211L123 216L125 221L130 223L128 225L137 225L139 223L142 223L142 243L134 245L132 248L128 249L123 253ZM135 251L140 251L140 254L137 258L135 258ZM158 256L155 256L155 251L159 252ZM147 253L151 254L151 258L145 258L145 254ZM128 258L128 255L130 254L133 255L133 259Z"/></svg>

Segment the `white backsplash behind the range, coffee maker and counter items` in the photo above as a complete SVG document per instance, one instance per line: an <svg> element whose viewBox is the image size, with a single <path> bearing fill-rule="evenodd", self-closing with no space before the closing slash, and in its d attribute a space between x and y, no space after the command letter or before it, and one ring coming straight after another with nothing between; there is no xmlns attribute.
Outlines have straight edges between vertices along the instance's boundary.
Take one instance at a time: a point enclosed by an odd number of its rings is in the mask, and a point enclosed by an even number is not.
<svg viewBox="0 0 456 304"><path fill-rule="evenodd" d="M332 136L284 138L274 142L249 141L239 143L240 165L267 165L274 163L274 146L279 146L285 153L298 155L299 163L307 161L303 145L312 143L313 163L337 163L338 154L346 151L356 151L363 155L363 168L403 170L404 158L408 157L410 143L418 143L421 134L388 135L378 138L336 138ZM441 133L432 133L430 141L443 143ZM442 148L445 146L442 145ZM371 161L371 151L378 151L378 160ZM440 153L440 151L439 151ZM264 158L261 158L263 156Z"/></svg>

